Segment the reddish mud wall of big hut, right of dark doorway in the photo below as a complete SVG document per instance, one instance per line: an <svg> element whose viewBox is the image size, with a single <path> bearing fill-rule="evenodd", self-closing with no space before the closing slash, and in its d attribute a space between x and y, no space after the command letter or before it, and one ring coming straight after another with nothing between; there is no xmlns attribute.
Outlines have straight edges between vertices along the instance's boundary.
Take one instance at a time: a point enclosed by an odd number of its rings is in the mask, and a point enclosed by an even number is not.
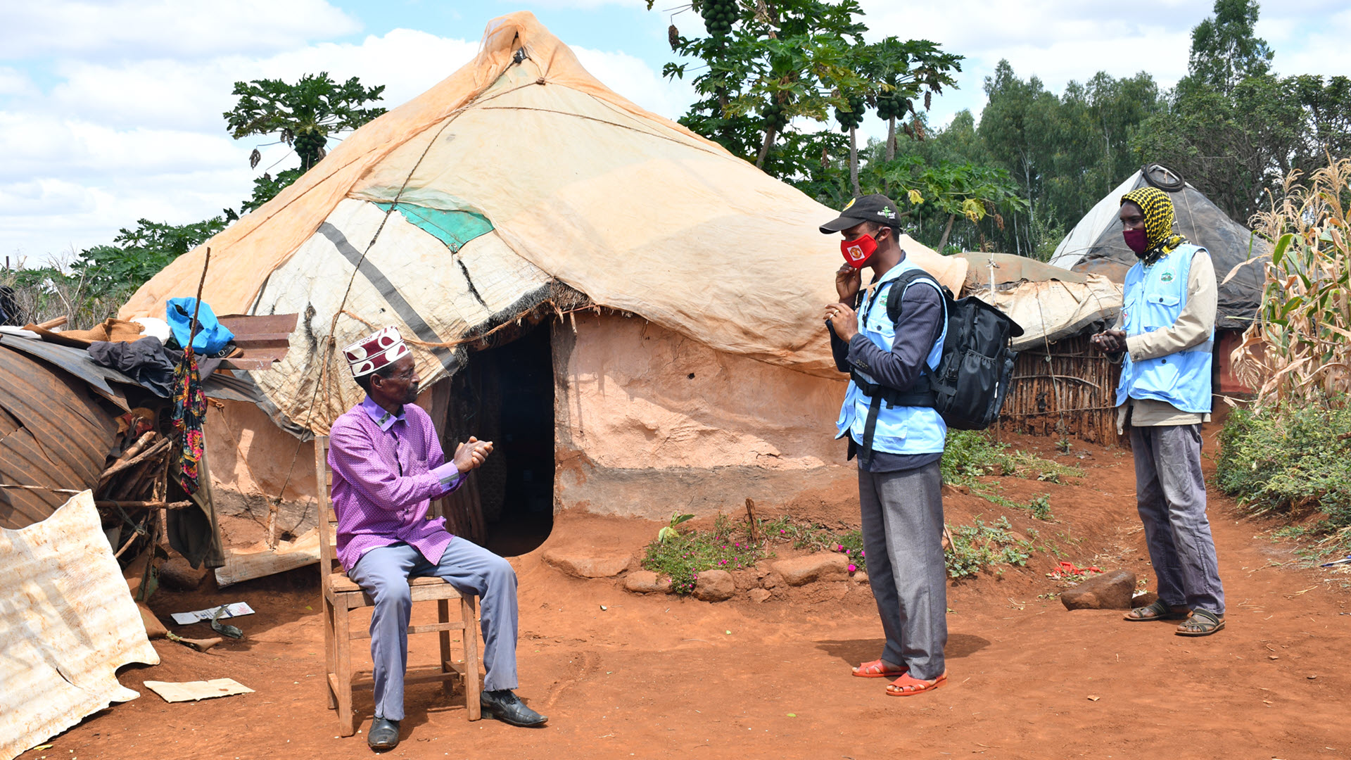
<svg viewBox="0 0 1351 760"><path fill-rule="evenodd" d="M638 316L555 323L555 508L669 519L807 492L858 503L834 440L846 381L707 345ZM857 507L854 507L857 508Z"/></svg>

